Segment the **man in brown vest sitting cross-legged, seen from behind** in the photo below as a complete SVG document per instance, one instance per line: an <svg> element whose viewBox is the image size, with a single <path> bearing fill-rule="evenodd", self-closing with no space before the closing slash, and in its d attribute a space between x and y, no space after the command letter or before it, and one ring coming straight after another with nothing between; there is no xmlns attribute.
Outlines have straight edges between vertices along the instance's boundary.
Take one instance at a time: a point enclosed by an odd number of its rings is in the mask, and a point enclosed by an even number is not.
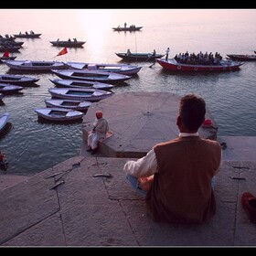
<svg viewBox="0 0 256 256"><path fill-rule="evenodd" d="M155 221L199 224L216 213L213 188L221 146L198 135L205 113L202 98L195 94L182 97L176 118L178 137L156 144L144 157L123 166Z"/></svg>

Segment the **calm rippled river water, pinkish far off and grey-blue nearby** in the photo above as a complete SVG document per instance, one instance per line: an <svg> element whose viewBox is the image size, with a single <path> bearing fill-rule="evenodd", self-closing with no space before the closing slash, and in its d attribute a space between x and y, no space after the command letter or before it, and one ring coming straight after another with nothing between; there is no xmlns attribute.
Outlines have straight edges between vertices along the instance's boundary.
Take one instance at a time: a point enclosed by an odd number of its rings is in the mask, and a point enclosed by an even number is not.
<svg viewBox="0 0 256 256"><path fill-rule="evenodd" d="M124 22L143 29L132 33L112 31ZM155 48L164 54L169 47L170 57L187 50L218 51L224 58L229 53L253 54L256 50L256 9L0 9L0 24L3 36L30 30L42 33L40 38L17 38L25 43L20 53L14 54L16 59L117 63L121 59L115 52L127 48L132 52L152 52ZM86 43L83 48L68 48L68 54L55 57L61 48L52 47L49 41L69 37ZM239 71L219 74L170 74L157 63L150 68L151 64L139 63L143 69L138 76L128 80L128 86L113 91L195 92L207 101L219 135L256 136L256 62L245 62ZM0 64L1 74L8 70ZM33 110L45 106L44 100L50 98L48 88L54 87L48 79L57 77L51 73L27 75L40 78L38 87L6 96L0 105L0 113L11 113L13 124L13 129L0 139L0 149L9 162L7 174L33 175L80 152L81 123L40 123Z"/></svg>

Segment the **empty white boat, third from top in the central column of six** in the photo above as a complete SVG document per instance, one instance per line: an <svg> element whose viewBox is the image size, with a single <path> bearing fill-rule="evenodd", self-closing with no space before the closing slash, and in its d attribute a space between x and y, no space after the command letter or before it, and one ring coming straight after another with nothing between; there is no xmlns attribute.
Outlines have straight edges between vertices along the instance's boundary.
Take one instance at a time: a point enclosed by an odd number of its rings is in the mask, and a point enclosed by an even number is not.
<svg viewBox="0 0 256 256"><path fill-rule="evenodd" d="M68 88L93 88L98 90L110 90L114 85L110 83L104 83L99 81L90 80L61 80L61 79L49 79L57 87L68 87Z"/></svg>

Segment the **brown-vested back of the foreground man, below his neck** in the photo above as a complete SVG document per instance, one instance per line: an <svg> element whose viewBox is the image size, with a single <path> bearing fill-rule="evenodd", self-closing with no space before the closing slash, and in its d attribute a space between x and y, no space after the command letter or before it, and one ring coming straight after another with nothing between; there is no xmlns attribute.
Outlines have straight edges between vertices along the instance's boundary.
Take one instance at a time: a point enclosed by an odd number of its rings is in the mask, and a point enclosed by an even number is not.
<svg viewBox="0 0 256 256"><path fill-rule="evenodd" d="M146 197L155 220L202 223L216 212L211 179L219 168L219 143L198 136L155 145L158 173Z"/></svg>

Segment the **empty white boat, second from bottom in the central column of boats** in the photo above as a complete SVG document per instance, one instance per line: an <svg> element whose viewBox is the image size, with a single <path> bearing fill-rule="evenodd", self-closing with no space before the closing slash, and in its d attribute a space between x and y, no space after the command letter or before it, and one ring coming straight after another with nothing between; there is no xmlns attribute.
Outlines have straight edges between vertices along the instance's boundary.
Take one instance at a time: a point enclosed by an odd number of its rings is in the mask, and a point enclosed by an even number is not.
<svg viewBox="0 0 256 256"><path fill-rule="evenodd" d="M74 111L85 112L91 106L91 101L50 99L45 100L48 108L66 108Z"/></svg>

